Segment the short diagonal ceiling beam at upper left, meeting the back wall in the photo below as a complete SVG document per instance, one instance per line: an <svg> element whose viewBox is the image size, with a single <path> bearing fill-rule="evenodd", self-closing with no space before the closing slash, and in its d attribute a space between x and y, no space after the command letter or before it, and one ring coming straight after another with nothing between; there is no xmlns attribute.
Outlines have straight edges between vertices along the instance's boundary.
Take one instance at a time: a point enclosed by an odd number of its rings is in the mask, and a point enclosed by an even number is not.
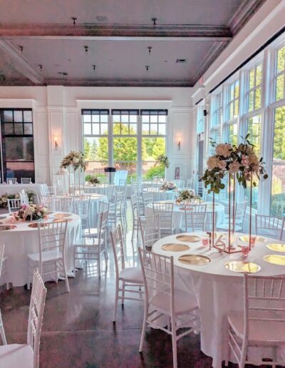
<svg viewBox="0 0 285 368"><path fill-rule="evenodd" d="M8 53L14 61L14 68L21 73L23 76L28 78L35 84L43 84L43 75L34 68L31 63L15 48L13 45L6 40L0 40L0 48L5 53Z"/></svg>

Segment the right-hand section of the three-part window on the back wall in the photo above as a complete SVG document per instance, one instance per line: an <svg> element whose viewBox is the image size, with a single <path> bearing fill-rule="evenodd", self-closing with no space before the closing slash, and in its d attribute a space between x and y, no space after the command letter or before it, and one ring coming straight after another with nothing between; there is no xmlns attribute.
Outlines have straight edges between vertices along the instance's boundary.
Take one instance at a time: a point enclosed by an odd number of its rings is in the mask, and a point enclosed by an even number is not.
<svg viewBox="0 0 285 368"><path fill-rule="evenodd" d="M165 168L155 165L166 154L165 137L167 110L141 110L142 116L142 177L165 178Z"/></svg>

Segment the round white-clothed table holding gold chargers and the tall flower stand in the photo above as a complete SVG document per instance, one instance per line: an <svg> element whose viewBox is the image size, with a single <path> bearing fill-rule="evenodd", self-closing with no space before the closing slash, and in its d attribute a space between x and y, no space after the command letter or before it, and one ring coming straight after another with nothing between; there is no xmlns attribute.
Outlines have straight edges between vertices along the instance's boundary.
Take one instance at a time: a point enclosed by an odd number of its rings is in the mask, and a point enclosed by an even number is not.
<svg viewBox="0 0 285 368"><path fill-rule="evenodd" d="M219 233L218 233L219 234ZM181 235L181 234L180 234ZM205 236L205 232L195 232L187 235ZM241 235L241 234L239 234ZM243 260L242 253L220 253L215 249L207 250L202 247L201 240L197 242L185 242L177 240L179 235L164 237L152 246L152 252L160 255L173 256L175 264L175 288L190 293L195 293L199 305L201 320L201 350L212 357L212 367L222 367L222 361L227 352L227 315L229 312L243 311L243 274L227 270L225 262L230 260ZM284 275L284 265L273 265L263 260L264 255L279 254L269 250L269 243L281 243L279 240L269 237L258 237L256 245L249 252L246 262L254 262L261 266L261 270L251 275L277 276ZM185 244L190 250L183 252L170 252L162 249L169 243ZM238 240L238 244L243 244ZM206 265L185 265L178 258L186 254L202 254L209 257ZM254 350L249 351L254 354ZM279 352L284 357L284 349ZM234 358L231 357L234 362Z"/></svg>

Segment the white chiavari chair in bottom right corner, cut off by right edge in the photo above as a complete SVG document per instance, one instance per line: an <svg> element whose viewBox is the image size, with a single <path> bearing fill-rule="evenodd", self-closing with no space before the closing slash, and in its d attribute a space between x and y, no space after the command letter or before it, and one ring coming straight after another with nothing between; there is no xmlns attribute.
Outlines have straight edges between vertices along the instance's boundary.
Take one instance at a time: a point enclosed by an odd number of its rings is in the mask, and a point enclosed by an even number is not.
<svg viewBox="0 0 285 368"><path fill-rule="evenodd" d="M239 368L245 364L285 366L285 359L277 360L277 349L285 344L285 276L257 277L244 274L244 310L232 312L227 316L228 352L234 355ZM250 347L271 348L271 361L261 358L250 361ZM259 351L259 356L262 350ZM266 349L266 357L269 358ZM255 355L255 354L254 354Z"/></svg>

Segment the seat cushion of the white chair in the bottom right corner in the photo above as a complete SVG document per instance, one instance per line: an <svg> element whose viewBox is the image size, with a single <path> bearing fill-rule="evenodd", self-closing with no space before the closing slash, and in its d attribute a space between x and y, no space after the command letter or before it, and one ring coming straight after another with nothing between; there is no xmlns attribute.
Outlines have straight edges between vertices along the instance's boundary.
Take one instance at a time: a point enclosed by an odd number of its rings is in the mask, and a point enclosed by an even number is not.
<svg viewBox="0 0 285 368"><path fill-rule="evenodd" d="M266 317L269 317L269 315ZM273 317L271 313L270 317ZM244 336L243 312L230 313L228 321L237 336L242 338ZM285 322L249 320L249 342L266 342L268 345L285 342Z"/></svg>

